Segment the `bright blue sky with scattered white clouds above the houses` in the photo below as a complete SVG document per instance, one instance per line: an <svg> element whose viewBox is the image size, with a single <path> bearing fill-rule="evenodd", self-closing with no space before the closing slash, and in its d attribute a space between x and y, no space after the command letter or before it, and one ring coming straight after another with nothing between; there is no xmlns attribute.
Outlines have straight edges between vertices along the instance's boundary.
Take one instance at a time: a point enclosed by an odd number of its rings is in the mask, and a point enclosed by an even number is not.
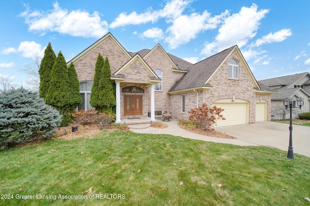
<svg viewBox="0 0 310 206"><path fill-rule="evenodd" d="M217 3L220 2L220 3ZM27 87L51 42L68 61L104 36L129 52L161 44L192 63L237 44L257 80L310 72L309 0L10 0L0 7L0 77Z"/></svg>

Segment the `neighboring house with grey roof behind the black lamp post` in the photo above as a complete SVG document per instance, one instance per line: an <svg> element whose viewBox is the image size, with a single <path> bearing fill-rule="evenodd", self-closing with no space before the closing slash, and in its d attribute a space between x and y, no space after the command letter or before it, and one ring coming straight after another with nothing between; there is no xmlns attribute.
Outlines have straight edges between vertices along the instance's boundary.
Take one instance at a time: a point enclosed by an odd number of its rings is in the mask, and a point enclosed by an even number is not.
<svg viewBox="0 0 310 206"><path fill-rule="evenodd" d="M259 81L269 88L279 91L271 94L271 117L273 119L289 118L289 110L283 106L283 100L289 98L293 101L293 118L297 118L302 112L310 112L310 73L300 73L288 76L280 76ZM304 105L297 107L297 99L301 98Z"/></svg>

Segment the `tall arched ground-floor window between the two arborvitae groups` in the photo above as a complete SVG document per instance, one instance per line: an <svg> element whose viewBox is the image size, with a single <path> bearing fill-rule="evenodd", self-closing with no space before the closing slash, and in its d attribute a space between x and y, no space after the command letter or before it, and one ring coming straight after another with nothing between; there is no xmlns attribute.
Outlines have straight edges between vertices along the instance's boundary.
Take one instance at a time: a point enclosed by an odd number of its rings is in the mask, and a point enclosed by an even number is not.
<svg viewBox="0 0 310 206"><path fill-rule="evenodd" d="M93 81L84 81L79 83L79 93L82 97L82 103L78 104L78 110L94 109L89 103L91 99L91 91L93 87Z"/></svg>

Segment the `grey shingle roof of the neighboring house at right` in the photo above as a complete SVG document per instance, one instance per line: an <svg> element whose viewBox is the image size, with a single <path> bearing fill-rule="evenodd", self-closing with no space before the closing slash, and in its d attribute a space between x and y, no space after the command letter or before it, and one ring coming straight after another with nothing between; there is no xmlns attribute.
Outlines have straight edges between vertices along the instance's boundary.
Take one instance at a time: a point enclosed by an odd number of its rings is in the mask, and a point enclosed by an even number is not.
<svg viewBox="0 0 310 206"><path fill-rule="evenodd" d="M305 73L300 73L300 74L280 76L280 77L271 78L271 79L264 79L264 80L259 81L259 83L264 84L269 87L278 86L278 85L282 86L281 88L275 89L276 91L278 91L278 93L271 94L272 100L284 100L286 97L288 98L293 97L294 95L297 95L296 92L299 90L309 96L309 94L304 89L294 88L295 83L301 80L306 75L310 76L310 73L305 72ZM303 85L307 85L308 84L307 82L310 82L310 79L306 81L305 83L303 83Z"/></svg>

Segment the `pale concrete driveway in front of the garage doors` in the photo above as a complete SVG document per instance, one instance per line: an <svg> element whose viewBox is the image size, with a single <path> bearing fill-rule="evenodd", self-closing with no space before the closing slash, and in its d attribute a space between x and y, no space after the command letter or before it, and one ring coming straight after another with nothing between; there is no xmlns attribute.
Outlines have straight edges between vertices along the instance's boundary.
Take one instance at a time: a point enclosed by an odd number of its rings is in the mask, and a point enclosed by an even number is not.
<svg viewBox="0 0 310 206"><path fill-rule="evenodd" d="M289 126L284 123L263 121L256 124L218 127L216 131L255 145L275 147L287 152L290 137ZM310 157L310 127L293 125L292 136L294 153Z"/></svg>

